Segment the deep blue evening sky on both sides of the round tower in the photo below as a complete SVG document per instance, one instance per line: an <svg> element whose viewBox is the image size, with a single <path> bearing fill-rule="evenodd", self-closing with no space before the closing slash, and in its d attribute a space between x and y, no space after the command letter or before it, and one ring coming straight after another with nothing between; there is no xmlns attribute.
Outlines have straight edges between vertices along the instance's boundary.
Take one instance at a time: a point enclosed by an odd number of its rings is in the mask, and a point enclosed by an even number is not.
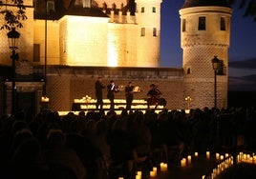
<svg viewBox="0 0 256 179"><path fill-rule="evenodd" d="M163 0L161 3L160 67L163 68L182 67L179 10L183 2ZM229 83L239 87L241 80L244 80L244 89L256 90L256 22L253 22L252 17L244 17L245 9L238 9L238 4L233 5L232 9L228 51ZM245 86L246 81L249 87Z"/></svg>

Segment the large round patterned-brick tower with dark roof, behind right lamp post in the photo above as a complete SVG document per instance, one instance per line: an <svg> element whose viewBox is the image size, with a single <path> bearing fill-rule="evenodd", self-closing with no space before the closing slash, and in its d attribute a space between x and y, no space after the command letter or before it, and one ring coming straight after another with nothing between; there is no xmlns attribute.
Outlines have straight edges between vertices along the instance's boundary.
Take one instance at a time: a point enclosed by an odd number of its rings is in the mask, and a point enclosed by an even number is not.
<svg viewBox="0 0 256 179"><path fill-rule="evenodd" d="M186 0L180 10L183 100L190 103L190 108L214 107L215 80L211 62L214 56L221 60L223 69L216 80L217 108L227 107L231 13L225 0Z"/></svg>

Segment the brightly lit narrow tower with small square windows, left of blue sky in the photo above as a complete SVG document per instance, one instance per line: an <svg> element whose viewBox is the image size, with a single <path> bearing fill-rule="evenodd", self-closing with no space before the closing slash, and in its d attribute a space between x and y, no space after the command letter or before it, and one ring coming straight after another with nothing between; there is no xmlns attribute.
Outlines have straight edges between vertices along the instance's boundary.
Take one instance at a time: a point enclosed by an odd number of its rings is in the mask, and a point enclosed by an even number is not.
<svg viewBox="0 0 256 179"><path fill-rule="evenodd" d="M161 0L136 0L137 67L160 66L160 4Z"/></svg>

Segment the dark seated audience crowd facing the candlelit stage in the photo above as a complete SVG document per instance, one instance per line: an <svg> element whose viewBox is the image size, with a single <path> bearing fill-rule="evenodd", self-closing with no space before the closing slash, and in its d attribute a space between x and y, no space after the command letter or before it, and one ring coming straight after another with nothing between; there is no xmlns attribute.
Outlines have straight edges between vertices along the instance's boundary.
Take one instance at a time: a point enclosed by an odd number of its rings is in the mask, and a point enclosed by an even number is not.
<svg viewBox="0 0 256 179"><path fill-rule="evenodd" d="M0 173L11 179L131 178L139 168L176 163L194 151L256 150L255 126L254 108L190 113L123 109L120 115L110 110L64 116L51 110L35 116L19 111L1 116Z"/></svg>

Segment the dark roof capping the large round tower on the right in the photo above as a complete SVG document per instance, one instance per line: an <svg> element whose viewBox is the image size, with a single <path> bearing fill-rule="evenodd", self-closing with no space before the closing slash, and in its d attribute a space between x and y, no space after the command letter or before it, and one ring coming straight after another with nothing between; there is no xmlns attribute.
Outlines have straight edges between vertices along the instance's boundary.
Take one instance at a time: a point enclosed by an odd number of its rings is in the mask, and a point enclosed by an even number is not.
<svg viewBox="0 0 256 179"><path fill-rule="evenodd" d="M204 6L218 6L230 8L229 0L185 0L181 9Z"/></svg>

